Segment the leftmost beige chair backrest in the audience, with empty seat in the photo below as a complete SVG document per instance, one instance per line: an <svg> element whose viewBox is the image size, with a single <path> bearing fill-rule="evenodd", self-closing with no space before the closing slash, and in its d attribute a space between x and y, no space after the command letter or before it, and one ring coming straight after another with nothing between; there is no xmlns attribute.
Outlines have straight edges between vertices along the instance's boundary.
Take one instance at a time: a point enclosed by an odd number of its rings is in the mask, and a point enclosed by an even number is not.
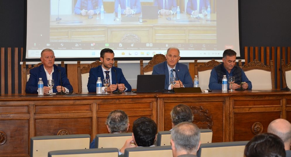
<svg viewBox="0 0 291 157"><path fill-rule="evenodd" d="M47 157L49 151L89 149L90 135L36 136L30 139L30 157Z"/></svg>

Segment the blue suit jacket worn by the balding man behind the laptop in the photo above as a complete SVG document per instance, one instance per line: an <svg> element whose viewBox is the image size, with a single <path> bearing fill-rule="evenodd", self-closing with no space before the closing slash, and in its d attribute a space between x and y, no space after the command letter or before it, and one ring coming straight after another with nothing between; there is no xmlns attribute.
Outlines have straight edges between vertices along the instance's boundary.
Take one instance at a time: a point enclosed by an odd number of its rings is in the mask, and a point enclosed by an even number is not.
<svg viewBox="0 0 291 157"><path fill-rule="evenodd" d="M176 78L179 77L179 79L182 81L184 87L193 87L193 81L189 73L189 69L185 64L177 63L176 64ZM153 68L153 73L152 75L156 74L165 74L166 75L166 81L165 81L165 89L168 89L169 87L169 81L170 81L170 76L169 76L169 70L167 66L167 61L162 62L160 64L157 64ZM177 77L178 75L178 77Z"/></svg>

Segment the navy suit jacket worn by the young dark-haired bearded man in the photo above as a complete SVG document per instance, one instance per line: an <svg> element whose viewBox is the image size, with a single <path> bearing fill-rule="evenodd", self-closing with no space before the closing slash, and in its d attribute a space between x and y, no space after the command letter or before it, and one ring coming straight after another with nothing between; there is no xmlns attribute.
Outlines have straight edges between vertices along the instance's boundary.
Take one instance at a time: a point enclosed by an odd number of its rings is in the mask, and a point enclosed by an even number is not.
<svg viewBox="0 0 291 157"><path fill-rule="evenodd" d="M114 72L114 69L116 70L116 74ZM97 82L98 77L100 77L101 80L104 79L102 65L99 65L98 67L90 69L89 79L88 79L88 84L87 84L88 92L96 92L96 82ZM125 85L125 87L127 88L126 92L131 91L131 86L126 81L126 79L122 73L122 70L120 68L112 67L111 68L111 77L112 78L110 78L110 79L112 81L112 84L117 84L117 82L116 82L116 80L117 80L118 83L122 83ZM103 83L102 83L102 87L103 87Z"/></svg>

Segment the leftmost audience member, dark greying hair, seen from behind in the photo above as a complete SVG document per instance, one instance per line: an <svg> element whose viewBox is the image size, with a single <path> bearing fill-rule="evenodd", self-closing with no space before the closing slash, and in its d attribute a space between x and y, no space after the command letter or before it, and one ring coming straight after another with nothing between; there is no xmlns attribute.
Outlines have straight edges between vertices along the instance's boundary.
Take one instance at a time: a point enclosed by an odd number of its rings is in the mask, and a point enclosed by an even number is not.
<svg viewBox="0 0 291 157"><path fill-rule="evenodd" d="M106 119L106 127L109 133L126 133L129 130L129 119L122 110L114 110ZM90 143L90 149L95 148L95 138Z"/></svg>

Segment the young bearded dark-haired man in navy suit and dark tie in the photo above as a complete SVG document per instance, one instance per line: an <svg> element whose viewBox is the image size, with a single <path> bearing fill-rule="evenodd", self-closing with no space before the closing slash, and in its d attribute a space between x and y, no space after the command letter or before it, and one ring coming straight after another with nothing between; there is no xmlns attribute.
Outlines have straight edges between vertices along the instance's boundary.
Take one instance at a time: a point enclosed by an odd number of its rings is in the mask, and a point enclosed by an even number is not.
<svg viewBox="0 0 291 157"><path fill-rule="evenodd" d="M88 92L96 92L96 82L98 77L101 78L101 81L106 78L106 72L109 71L108 75L110 78L110 85L107 87L108 92L113 91L123 91L130 92L131 86L126 81L122 70L117 67L113 67L114 64L114 52L110 48L105 48L100 52L100 61L102 65L98 67L92 68L89 71L89 79L88 79ZM117 82L116 82L117 81ZM117 86L118 83L118 86ZM118 87L118 89L117 89ZM105 87L102 84L102 92L104 92Z"/></svg>

